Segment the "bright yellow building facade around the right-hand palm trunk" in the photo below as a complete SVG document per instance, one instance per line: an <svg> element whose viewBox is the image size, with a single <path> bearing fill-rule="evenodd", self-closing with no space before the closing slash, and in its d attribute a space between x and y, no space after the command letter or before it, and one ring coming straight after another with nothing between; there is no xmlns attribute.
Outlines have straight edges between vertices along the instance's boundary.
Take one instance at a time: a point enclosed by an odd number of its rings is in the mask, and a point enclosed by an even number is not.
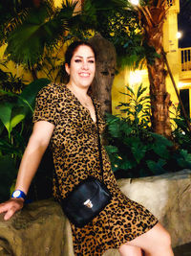
<svg viewBox="0 0 191 256"><path fill-rule="evenodd" d="M178 39L178 14L180 12L180 0L168 0L169 10L167 18L163 24L163 48L168 59L168 63L173 74L176 85L180 91L180 98L183 105L190 115L191 113L191 46L189 48L179 48ZM118 114L118 103L127 102L128 97L120 94L125 92L125 85L136 90L138 85L149 88L147 69L130 70L128 68L122 70L117 75L113 85L113 113ZM173 83L169 77L166 77L166 88L171 95L173 105L178 106L179 100L176 95ZM149 95L149 89L147 90Z"/></svg>

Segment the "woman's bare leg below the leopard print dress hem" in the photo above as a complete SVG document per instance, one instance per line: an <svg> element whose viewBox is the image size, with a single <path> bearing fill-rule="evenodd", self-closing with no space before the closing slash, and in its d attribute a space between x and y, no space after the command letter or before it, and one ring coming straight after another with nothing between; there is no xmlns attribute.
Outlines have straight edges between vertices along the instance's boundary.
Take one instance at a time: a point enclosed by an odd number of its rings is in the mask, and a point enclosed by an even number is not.
<svg viewBox="0 0 191 256"><path fill-rule="evenodd" d="M133 245L141 248L144 251L146 256L161 256L161 255L173 256L174 255L171 248L170 235L160 223L156 224L152 229L140 235L138 238L130 242L127 242L126 245ZM122 246L123 245L121 245L121 247ZM123 256L128 255L128 251L125 252L125 247L123 247L122 253L123 253L122 254Z"/></svg>

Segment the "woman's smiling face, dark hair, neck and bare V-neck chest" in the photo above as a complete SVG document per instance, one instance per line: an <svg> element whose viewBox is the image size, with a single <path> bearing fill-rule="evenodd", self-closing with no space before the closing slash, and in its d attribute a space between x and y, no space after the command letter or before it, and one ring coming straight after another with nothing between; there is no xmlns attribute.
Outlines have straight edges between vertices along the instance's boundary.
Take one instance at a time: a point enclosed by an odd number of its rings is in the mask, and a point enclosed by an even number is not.
<svg viewBox="0 0 191 256"><path fill-rule="evenodd" d="M95 77L96 53L88 43L79 44L77 47L78 44L79 42L74 42L66 53L65 69L70 76L67 87L74 93L81 105L89 109L91 117L96 122L94 105L91 97L87 94Z"/></svg>

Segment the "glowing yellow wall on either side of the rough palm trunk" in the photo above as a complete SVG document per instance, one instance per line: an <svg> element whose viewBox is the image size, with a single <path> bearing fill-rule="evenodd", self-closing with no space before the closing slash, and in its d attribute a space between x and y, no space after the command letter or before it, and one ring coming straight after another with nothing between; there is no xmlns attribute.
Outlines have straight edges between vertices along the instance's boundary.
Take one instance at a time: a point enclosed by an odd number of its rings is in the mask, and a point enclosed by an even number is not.
<svg viewBox="0 0 191 256"><path fill-rule="evenodd" d="M168 59L174 80L176 81L177 86L180 88L180 85L185 87L186 84L187 86L189 86L189 83L188 81L187 83L182 81L181 72L180 72L181 60L180 60L180 49L178 48L178 38L177 38L179 12L180 12L180 2L179 0L175 0L173 2L173 5L170 7L169 12L167 14L167 18L164 22L163 46L164 46L164 51L167 53L167 59ZM187 79L191 81L191 75ZM135 72L133 72L127 68L119 72L119 74L117 75L114 81L113 91L112 91L113 114L120 113L117 107L119 100L128 101L128 97L119 96L118 91L124 92L126 84L129 84L132 88L137 88L140 83L142 83L143 86L146 86L149 88L149 81L148 81L148 75L147 75L146 69L141 71L136 70ZM179 101L169 76L167 76L166 78L166 88L168 93L170 93L171 95L172 103L177 106L179 104ZM146 94L149 94L149 89L146 91ZM190 93L190 96L191 96L191 93Z"/></svg>

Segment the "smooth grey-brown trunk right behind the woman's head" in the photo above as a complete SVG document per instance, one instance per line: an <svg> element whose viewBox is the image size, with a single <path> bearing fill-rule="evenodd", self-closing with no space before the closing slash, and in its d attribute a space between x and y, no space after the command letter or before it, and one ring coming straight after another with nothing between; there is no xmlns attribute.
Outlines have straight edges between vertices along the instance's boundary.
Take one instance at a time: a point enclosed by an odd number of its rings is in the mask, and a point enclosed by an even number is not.
<svg viewBox="0 0 191 256"><path fill-rule="evenodd" d="M116 70L116 50L111 42L97 34L89 41L96 50L96 76L93 95L101 103L102 114L112 112L112 84Z"/></svg>

